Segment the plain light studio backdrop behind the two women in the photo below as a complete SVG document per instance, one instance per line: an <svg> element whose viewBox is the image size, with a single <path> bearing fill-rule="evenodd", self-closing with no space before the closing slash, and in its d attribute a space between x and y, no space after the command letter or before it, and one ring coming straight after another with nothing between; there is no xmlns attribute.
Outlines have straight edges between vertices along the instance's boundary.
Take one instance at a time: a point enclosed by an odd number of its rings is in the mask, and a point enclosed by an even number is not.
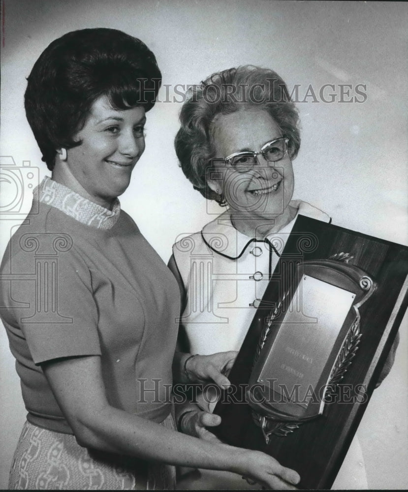
<svg viewBox="0 0 408 492"><path fill-rule="evenodd" d="M155 53L171 102L148 113L146 151L121 203L164 261L179 234L200 230L221 212L207 207L177 165L179 93L214 71L247 63L276 70L289 91L299 84L301 100L310 85L317 94L317 101L310 96L298 104L294 198L324 210L337 225L407 245L406 3L5 0L1 14L0 155L17 166L30 161L40 179L49 173L23 94L43 49L67 31L110 27L139 37ZM335 86L335 102L319 98L324 84ZM339 102L340 84L351 84L350 96L365 84L367 100ZM159 97L166 99L165 87ZM1 184L7 204L13 190ZM24 191L22 214L31 203L27 186ZM0 255L21 217L1 214ZM400 332L395 365L359 428L370 489L408 487L407 316ZM3 329L0 343L0 488L6 488L26 412Z"/></svg>

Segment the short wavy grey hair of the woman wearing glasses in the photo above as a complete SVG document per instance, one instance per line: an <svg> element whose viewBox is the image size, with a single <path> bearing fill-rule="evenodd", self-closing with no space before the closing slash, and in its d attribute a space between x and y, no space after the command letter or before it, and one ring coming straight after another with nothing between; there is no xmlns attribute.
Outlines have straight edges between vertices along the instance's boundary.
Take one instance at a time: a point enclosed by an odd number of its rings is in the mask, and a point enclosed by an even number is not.
<svg viewBox="0 0 408 492"><path fill-rule="evenodd" d="M185 176L205 198L225 205L207 184L207 168L214 154L213 123L219 114L255 106L267 111L289 138L293 159L300 147L299 116L283 79L273 70L253 65L213 73L193 86L180 112L181 127L176 135L176 154Z"/></svg>

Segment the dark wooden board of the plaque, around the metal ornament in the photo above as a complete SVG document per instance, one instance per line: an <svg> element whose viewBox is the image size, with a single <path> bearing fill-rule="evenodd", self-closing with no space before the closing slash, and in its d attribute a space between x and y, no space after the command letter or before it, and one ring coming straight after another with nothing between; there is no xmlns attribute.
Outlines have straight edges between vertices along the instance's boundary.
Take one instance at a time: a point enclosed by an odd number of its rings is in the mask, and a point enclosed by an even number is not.
<svg viewBox="0 0 408 492"><path fill-rule="evenodd" d="M236 402L232 395L224 394L215 408L215 413L222 417L216 431L220 439L263 451L295 469L301 476L301 489L330 489L345 458L407 309L408 247L300 215L229 374L232 388L248 383L271 303L276 305L279 301L282 285L287 285L293 275L293 265L302 260L328 259L339 253L349 253L353 258L348 263L361 268L378 283L377 290L361 307L360 346L340 383L344 388L364 385L365 398L360 398L360 391L355 401L326 404L323 415L303 423L287 436L272 435L268 445L253 422L247 403ZM239 391L235 398L240 399Z"/></svg>

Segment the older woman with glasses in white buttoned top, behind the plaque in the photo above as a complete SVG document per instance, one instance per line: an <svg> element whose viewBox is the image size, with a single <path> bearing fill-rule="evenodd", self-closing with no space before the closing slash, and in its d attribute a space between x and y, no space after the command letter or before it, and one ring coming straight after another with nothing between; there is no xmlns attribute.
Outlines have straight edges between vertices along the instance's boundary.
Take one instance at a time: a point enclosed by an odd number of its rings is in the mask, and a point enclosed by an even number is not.
<svg viewBox="0 0 408 492"><path fill-rule="evenodd" d="M180 121L175 147L184 174L205 198L227 206L173 246L169 266L185 300L180 343L193 354L239 350L297 215L324 222L330 217L292 200L298 113L274 71L241 66L213 74L194 86ZM203 408L209 400L202 400ZM190 405L182 428L192 433L193 418ZM233 475L203 473L192 486L243 483ZM357 438L334 487L367 488Z"/></svg>

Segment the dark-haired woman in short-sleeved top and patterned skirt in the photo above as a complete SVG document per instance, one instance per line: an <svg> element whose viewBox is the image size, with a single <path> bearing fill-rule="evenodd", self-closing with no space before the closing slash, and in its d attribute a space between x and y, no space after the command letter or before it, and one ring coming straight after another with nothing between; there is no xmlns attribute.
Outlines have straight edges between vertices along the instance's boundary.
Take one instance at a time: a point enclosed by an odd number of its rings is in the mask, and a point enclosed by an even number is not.
<svg viewBox="0 0 408 492"><path fill-rule="evenodd" d="M146 45L110 29L63 35L28 78L27 118L52 177L1 266L1 317L28 410L10 489L172 489L180 464L265 487L299 479L263 453L174 430L172 367L179 381L226 384L231 354L174 356L176 281L118 200L160 79ZM21 281L29 272L35 281Z"/></svg>

